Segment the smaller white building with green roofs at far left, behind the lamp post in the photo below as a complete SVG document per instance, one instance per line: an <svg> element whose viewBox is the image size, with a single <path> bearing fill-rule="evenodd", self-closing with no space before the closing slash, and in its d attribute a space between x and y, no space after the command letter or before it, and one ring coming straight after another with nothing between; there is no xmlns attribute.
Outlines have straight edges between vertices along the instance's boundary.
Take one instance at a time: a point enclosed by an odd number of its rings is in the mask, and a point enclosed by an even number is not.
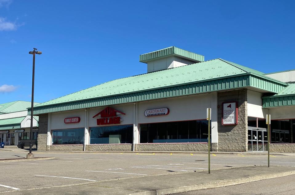
<svg viewBox="0 0 295 195"><path fill-rule="evenodd" d="M14 101L0 104L0 142L5 144L5 148L30 147L31 116L28 115L28 107L31 107L31 102ZM37 144L38 118L33 117L33 147Z"/></svg>

